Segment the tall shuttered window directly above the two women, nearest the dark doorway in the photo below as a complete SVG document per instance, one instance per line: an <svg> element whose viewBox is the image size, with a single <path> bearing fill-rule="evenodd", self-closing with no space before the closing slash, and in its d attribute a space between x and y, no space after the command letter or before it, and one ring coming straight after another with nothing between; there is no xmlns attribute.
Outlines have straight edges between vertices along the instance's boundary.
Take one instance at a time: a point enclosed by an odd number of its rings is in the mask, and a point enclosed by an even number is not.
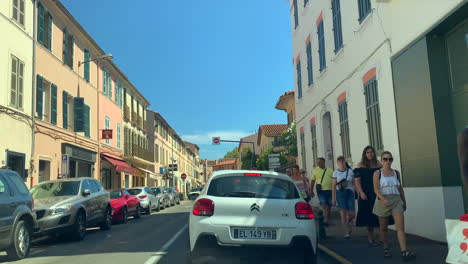
<svg viewBox="0 0 468 264"><path fill-rule="evenodd" d="M377 80L374 78L364 84L366 96L367 128L369 130L369 141L377 152L383 151L382 128L380 123L379 95L377 91Z"/></svg>

